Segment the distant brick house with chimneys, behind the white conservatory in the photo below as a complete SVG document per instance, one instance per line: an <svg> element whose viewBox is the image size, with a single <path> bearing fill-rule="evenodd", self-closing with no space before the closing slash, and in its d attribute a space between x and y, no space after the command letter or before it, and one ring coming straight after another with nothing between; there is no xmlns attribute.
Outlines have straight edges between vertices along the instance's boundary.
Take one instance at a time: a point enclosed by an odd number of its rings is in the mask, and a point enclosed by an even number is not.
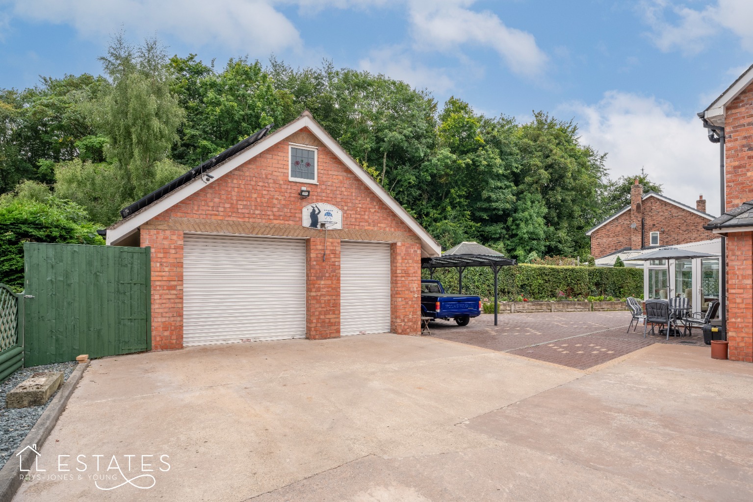
<svg viewBox="0 0 753 502"><path fill-rule="evenodd" d="M588 230L586 235L591 238L591 254L601 258L624 251L715 239L717 236L703 229L713 218L706 213L703 195L692 208L660 193L643 193L643 186L636 180L630 190L630 205Z"/></svg>

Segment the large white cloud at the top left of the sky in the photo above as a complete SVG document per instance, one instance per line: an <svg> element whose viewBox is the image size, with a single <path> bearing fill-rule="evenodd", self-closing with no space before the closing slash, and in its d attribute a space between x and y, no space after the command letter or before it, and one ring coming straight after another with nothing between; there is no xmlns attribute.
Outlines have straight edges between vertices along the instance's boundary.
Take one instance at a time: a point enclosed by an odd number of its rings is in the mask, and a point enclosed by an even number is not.
<svg viewBox="0 0 753 502"><path fill-rule="evenodd" d="M157 32L242 52L268 53L301 45L295 26L264 0L14 0L12 4L15 16L69 24L84 36L106 36L123 27L138 35Z"/></svg>

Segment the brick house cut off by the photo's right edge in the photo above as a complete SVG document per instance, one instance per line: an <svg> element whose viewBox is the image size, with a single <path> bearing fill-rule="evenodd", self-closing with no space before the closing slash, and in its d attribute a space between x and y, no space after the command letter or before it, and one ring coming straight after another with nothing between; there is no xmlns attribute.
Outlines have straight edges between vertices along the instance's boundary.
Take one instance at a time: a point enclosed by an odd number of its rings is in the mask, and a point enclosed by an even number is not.
<svg viewBox="0 0 753 502"><path fill-rule="evenodd" d="M706 229L725 236L729 357L753 362L753 66L699 114L724 152L724 214Z"/></svg>

